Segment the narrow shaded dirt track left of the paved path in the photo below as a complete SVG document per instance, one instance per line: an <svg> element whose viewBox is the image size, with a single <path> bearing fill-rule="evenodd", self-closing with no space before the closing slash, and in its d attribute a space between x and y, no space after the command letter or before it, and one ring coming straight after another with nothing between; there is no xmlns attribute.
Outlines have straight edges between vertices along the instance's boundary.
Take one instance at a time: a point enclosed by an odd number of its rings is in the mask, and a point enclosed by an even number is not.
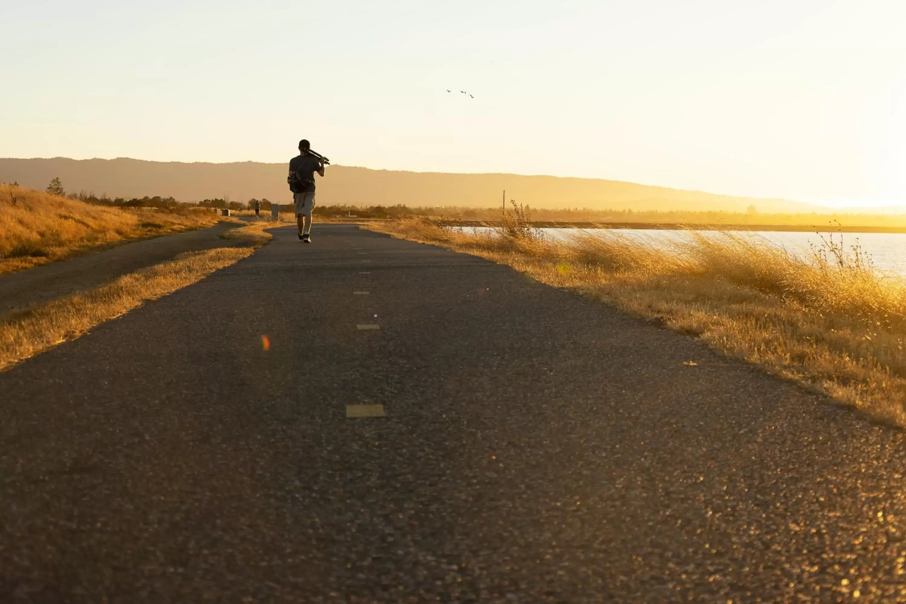
<svg viewBox="0 0 906 604"><path fill-rule="evenodd" d="M222 222L177 235L119 244L101 252L91 252L43 264L17 273L0 274L0 314L29 304L50 302L67 293L86 290L106 283L121 274L171 260L183 252L197 252L236 245L220 235L240 225Z"/></svg>

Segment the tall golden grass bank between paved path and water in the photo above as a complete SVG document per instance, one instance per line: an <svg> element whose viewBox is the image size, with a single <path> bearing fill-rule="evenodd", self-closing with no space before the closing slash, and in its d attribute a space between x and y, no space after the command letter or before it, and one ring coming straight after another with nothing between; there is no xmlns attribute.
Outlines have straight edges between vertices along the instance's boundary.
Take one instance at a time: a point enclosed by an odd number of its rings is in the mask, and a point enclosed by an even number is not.
<svg viewBox="0 0 906 604"><path fill-rule="evenodd" d="M727 233L655 248L619 231L558 243L514 218L496 235L415 218L368 228L476 254L656 318L906 427L906 283L876 273L858 248L831 242L802 259Z"/></svg>

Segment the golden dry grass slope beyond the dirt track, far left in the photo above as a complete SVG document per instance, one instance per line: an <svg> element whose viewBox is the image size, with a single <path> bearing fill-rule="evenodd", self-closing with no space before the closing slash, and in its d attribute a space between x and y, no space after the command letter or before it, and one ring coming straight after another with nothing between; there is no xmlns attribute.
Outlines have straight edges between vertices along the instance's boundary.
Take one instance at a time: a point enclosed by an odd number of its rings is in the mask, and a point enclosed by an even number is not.
<svg viewBox="0 0 906 604"><path fill-rule="evenodd" d="M213 212L173 214L92 206L0 185L0 273L61 260L98 245L214 225L217 220Z"/></svg>

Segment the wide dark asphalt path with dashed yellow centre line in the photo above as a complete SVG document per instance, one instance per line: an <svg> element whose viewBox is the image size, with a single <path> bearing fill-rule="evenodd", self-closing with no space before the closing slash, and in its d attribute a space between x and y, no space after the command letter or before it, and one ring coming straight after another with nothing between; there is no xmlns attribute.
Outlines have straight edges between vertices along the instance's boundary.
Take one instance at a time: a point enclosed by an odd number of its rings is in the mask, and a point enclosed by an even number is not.
<svg viewBox="0 0 906 604"><path fill-rule="evenodd" d="M0 414L0 601L906 601L900 431L352 226L5 371Z"/></svg>

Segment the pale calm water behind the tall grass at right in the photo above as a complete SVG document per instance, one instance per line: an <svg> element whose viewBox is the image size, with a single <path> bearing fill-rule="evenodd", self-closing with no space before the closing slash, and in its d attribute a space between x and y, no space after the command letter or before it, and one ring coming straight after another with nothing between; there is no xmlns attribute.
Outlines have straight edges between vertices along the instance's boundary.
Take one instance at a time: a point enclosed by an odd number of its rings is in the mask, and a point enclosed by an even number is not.
<svg viewBox="0 0 906 604"><path fill-rule="evenodd" d="M477 227L475 231L487 230ZM546 236L557 239L567 238L579 232L575 228L543 228ZM670 231L663 229L591 229L588 232L617 233L619 235L641 239L657 246L659 241L670 241L688 238L688 231ZM787 233L779 231L730 231L745 237L762 237L772 244L782 246L793 254L807 256L809 244L821 245L821 238L814 233ZM705 232L707 235L707 232ZM824 235L827 236L826 234ZM839 242L840 234L834 234L834 241ZM906 275L906 234L901 233L843 233L843 245L847 249L857 243L872 258L874 267L883 273L900 273Z"/></svg>

